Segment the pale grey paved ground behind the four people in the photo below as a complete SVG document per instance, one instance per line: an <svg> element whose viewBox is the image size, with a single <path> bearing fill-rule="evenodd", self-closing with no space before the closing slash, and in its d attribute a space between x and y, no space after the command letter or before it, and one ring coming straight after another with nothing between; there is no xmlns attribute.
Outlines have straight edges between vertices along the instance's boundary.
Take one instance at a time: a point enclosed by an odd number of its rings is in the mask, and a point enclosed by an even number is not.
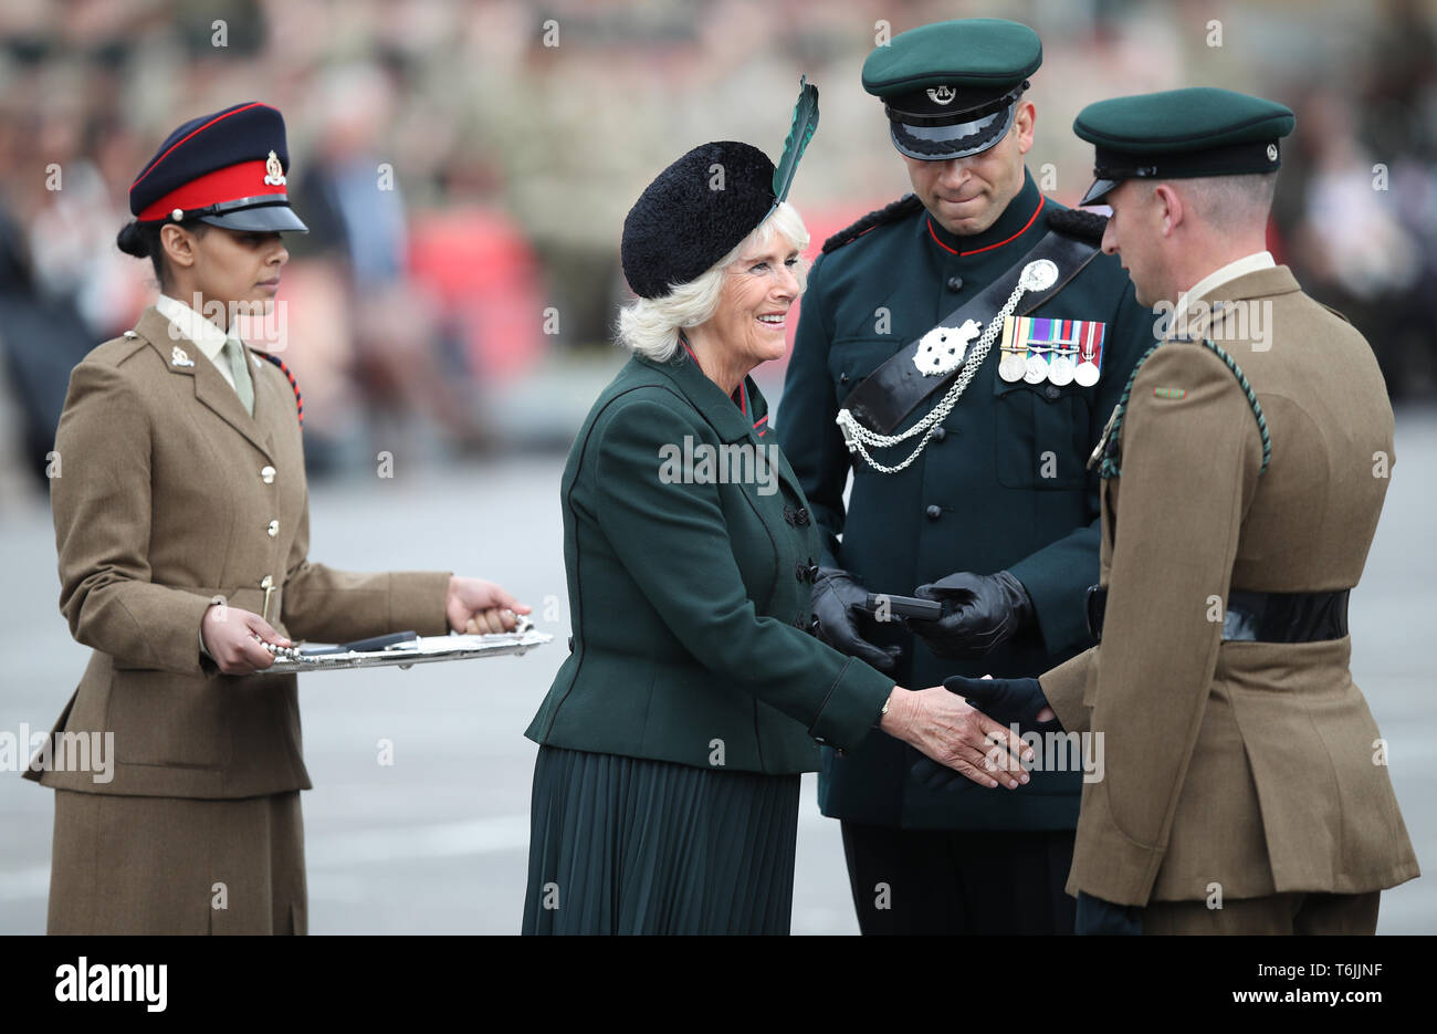
<svg viewBox="0 0 1437 1034"><path fill-rule="evenodd" d="M1437 864L1437 703L1423 654L1437 613L1437 414L1404 413L1398 466L1352 603L1352 669L1391 741L1418 857ZM315 933L510 933L525 890L533 745L522 735L565 654L560 457L316 486L312 558L356 569L451 568L532 603L555 641L519 659L308 676L305 795ZM43 505L0 521L0 732L49 728L88 651L56 610ZM376 764L376 742L395 764ZM45 928L52 801L0 772L0 933ZM1437 932L1437 893L1414 880L1384 899L1387 933ZM805 779L793 930L856 932L838 825Z"/></svg>

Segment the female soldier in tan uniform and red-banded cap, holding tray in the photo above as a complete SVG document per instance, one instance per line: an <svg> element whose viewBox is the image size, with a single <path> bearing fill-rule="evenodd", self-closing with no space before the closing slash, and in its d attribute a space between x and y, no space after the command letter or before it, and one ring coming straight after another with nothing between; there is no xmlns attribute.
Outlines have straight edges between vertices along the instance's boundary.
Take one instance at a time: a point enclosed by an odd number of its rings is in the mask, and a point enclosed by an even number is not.
<svg viewBox="0 0 1437 1034"><path fill-rule="evenodd" d="M175 129L129 190L119 247L161 296L70 374L50 500L60 610L93 647L56 723L103 771L32 761L55 794L50 933L305 933L290 636L514 627L491 582L308 559L299 391L236 335L305 232L285 122L241 104ZM201 315L203 314L203 315Z"/></svg>

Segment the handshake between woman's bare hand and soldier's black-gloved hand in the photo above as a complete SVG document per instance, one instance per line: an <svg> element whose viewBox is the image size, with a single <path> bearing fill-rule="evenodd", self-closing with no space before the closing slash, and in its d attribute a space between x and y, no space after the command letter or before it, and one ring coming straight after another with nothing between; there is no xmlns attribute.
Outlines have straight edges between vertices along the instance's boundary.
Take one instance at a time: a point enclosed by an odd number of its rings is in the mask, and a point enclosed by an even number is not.
<svg viewBox="0 0 1437 1034"><path fill-rule="evenodd" d="M1027 782L1033 749L1013 726L1058 728L1038 679L953 676L930 689L895 686L878 728L924 755L912 775L930 790L947 790L960 775L1017 790Z"/></svg>

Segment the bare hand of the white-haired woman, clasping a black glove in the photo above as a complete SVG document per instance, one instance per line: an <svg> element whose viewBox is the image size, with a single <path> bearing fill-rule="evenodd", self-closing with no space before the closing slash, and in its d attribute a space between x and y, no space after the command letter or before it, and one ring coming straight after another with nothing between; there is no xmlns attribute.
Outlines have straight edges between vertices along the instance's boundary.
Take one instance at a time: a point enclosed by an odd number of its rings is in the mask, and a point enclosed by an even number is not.
<svg viewBox="0 0 1437 1034"><path fill-rule="evenodd" d="M980 787L1017 790L1027 782L1020 762L1032 762L1033 749L943 686L894 686L878 728Z"/></svg>

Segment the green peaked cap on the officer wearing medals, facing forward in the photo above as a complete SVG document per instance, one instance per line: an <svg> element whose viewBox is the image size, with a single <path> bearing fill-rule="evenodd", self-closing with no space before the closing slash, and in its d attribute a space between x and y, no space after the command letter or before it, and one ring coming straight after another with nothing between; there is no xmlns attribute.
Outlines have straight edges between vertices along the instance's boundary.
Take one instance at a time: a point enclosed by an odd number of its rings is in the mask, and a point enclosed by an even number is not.
<svg viewBox="0 0 1437 1034"><path fill-rule="evenodd" d="M894 36L864 62L864 89L884 99L894 147L946 161L993 147L1015 102L1043 63L1025 24L980 17L937 22Z"/></svg>

